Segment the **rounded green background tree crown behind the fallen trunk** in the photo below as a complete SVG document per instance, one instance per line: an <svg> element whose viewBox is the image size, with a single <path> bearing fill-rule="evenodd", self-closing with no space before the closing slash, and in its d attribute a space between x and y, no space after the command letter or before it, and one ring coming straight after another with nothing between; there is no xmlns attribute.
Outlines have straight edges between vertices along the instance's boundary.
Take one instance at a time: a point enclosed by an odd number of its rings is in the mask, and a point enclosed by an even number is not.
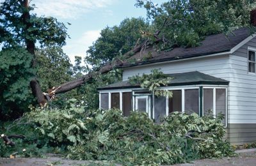
<svg viewBox="0 0 256 166"><path fill-rule="evenodd" d="M149 29L149 24L141 18L124 19L119 26L102 29L100 37L87 50L86 63L98 67L122 56L136 45L141 38L140 32Z"/></svg>

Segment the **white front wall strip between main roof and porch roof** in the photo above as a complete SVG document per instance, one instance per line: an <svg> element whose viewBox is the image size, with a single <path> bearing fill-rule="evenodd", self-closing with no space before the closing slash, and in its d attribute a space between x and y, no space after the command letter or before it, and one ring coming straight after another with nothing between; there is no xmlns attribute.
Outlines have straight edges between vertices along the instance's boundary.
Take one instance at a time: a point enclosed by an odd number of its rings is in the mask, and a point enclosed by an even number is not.
<svg viewBox="0 0 256 166"><path fill-rule="evenodd" d="M123 80L128 80L129 77L132 75L137 75L138 73L150 73L150 71L154 68L160 68L164 73L184 73L198 71L212 75L214 77L220 77L222 79L227 78L228 74L230 73L229 57L227 55L222 55L124 68Z"/></svg>

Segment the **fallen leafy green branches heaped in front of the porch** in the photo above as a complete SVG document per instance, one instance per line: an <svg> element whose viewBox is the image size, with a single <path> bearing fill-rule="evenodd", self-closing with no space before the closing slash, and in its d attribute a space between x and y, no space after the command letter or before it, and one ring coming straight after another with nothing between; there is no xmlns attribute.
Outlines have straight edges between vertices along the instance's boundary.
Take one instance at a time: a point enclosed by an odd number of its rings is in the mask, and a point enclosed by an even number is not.
<svg viewBox="0 0 256 166"><path fill-rule="evenodd" d="M232 155L220 119L175 112L156 124L146 114L123 117L119 110L93 114L86 144L69 146L68 158L134 164L172 164ZM187 137L187 135L190 136ZM196 139L197 138L197 139Z"/></svg>

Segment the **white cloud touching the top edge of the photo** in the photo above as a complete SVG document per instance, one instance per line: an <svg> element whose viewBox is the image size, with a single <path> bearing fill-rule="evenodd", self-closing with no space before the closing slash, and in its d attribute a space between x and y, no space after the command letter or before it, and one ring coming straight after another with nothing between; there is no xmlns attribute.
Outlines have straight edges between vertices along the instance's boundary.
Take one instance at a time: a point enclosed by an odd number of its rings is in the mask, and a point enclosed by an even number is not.
<svg viewBox="0 0 256 166"><path fill-rule="evenodd" d="M97 8L106 8L116 0L35 0L38 15L76 19Z"/></svg>

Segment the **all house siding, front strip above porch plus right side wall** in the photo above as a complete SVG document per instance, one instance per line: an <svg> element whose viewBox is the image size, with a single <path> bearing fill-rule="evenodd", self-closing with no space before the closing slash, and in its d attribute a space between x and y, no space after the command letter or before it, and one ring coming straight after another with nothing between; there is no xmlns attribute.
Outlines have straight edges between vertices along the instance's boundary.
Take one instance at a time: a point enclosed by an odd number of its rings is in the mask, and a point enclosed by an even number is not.
<svg viewBox="0 0 256 166"><path fill-rule="evenodd" d="M232 55L201 57L169 63L125 68L123 80L138 73L159 68L163 73L202 72L228 80L227 139L232 144L256 141L256 74L248 73L248 47L255 47L256 38L248 41Z"/></svg>

